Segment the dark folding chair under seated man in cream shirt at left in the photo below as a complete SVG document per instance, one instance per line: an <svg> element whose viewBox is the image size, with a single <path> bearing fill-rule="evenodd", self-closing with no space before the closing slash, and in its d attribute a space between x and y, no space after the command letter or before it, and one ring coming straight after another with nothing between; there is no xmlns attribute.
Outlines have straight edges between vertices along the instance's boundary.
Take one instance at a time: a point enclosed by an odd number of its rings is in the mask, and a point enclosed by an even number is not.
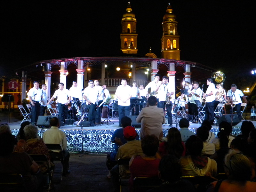
<svg viewBox="0 0 256 192"><path fill-rule="evenodd" d="M64 167L64 156L62 153L62 148L60 144L46 144L46 147L48 148L49 154L51 156L51 162L54 163L54 161L60 161L62 164L61 168L61 176L60 176L60 181L62 180L62 175L63 175L63 167ZM53 170L54 171L54 170Z"/></svg>

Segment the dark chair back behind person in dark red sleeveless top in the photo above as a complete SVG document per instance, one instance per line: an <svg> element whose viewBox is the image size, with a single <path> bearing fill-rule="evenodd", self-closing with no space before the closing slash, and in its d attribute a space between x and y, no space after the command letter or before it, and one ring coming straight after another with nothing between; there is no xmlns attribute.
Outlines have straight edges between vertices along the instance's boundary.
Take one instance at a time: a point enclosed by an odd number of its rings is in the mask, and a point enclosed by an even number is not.
<svg viewBox="0 0 256 192"><path fill-rule="evenodd" d="M133 179L133 191L143 192L154 187L159 187L162 180L158 177L135 177Z"/></svg>

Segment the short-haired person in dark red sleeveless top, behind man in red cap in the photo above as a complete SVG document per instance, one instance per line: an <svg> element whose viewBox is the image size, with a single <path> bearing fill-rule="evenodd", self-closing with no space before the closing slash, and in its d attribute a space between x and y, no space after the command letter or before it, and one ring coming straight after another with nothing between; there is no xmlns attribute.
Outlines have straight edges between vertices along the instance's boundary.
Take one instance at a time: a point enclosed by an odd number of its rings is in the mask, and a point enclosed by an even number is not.
<svg viewBox="0 0 256 192"><path fill-rule="evenodd" d="M159 141L156 135L145 135L141 140L143 155L132 156L129 162L131 172L129 183L131 184L131 189L135 177L158 177L160 159L155 157L158 146Z"/></svg>

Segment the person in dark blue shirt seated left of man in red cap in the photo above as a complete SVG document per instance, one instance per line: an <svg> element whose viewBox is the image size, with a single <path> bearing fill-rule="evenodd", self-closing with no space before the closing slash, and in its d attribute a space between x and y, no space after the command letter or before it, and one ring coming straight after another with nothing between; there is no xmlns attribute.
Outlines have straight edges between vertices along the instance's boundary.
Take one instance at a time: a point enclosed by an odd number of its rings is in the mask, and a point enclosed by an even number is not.
<svg viewBox="0 0 256 192"><path fill-rule="evenodd" d="M124 127L131 126L132 119L124 116L121 119L122 128L116 129L111 137L111 142L114 143L114 151L107 155L107 167L109 170L109 174L106 176L107 179L110 179L110 170L117 164L116 154L118 151L118 147L125 144L127 140L124 139ZM139 140L139 135L137 134L136 140Z"/></svg>

